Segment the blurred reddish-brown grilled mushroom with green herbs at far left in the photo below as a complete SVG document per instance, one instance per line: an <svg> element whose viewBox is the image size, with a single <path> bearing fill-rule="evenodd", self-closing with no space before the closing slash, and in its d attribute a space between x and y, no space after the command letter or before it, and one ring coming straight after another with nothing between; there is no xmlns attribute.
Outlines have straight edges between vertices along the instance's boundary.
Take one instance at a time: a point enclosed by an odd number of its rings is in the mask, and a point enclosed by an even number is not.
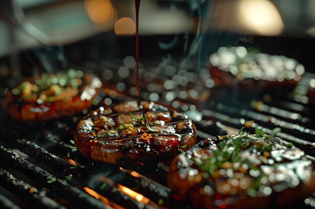
<svg viewBox="0 0 315 209"><path fill-rule="evenodd" d="M3 107L11 117L24 122L58 119L90 108L101 86L95 75L73 69L43 73L8 90Z"/></svg>

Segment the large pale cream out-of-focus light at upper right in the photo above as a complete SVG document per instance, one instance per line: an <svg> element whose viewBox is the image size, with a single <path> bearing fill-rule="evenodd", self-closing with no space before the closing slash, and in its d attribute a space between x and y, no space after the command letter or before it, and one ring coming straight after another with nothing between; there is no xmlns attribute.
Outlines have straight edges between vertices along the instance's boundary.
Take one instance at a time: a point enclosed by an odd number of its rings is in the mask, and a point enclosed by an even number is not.
<svg viewBox="0 0 315 209"><path fill-rule="evenodd" d="M216 16L210 20L218 29L276 36L284 24L275 5L268 0L215 0Z"/></svg>

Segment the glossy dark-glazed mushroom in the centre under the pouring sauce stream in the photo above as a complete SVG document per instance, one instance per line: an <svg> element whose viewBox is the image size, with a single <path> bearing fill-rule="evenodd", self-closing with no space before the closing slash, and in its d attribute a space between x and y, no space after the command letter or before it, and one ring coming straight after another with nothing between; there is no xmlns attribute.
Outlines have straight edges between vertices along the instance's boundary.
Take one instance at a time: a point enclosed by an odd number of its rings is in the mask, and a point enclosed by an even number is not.
<svg viewBox="0 0 315 209"><path fill-rule="evenodd" d="M77 125L74 134L85 156L110 164L168 163L195 140L195 125L186 115L149 101L100 107Z"/></svg>

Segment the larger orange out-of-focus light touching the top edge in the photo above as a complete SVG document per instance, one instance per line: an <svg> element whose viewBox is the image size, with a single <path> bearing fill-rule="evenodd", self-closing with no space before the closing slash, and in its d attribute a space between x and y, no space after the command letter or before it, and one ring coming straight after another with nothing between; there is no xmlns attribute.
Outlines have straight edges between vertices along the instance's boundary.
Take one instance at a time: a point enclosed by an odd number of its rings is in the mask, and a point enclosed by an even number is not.
<svg viewBox="0 0 315 209"><path fill-rule="evenodd" d="M86 0L85 6L91 21L97 24L110 22L116 13L110 0Z"/></svg>

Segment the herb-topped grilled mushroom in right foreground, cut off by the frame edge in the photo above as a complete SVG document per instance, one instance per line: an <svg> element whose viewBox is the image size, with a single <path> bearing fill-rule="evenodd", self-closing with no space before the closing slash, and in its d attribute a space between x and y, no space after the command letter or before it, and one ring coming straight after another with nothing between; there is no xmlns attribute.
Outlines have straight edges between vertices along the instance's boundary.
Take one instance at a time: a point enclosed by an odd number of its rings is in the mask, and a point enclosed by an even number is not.
<svg viewBox="0 0 315 209"><path fill-rule="evenodd" d="M315 190L304 152L261 131L201 141L172 162L168 183L202 208L281 208Z"/></svg>

